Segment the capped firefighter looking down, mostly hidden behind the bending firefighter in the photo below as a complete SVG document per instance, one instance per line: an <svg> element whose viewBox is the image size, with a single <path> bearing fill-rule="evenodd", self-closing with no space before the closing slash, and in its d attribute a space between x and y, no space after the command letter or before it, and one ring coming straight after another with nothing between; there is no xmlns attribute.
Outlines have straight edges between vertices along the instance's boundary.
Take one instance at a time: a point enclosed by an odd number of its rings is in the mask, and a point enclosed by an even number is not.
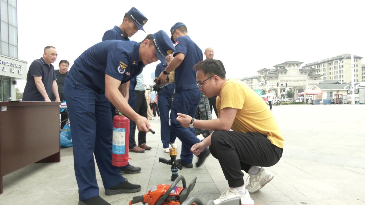
<svg viewBox="0 0 365 205"><path fill-rule="evenodd" d="M145 31L143 26L147 22L147 18L138 9L132 7L123 18L120 26L114 26L111 30L105 31L102 41L104 40L129 40L129 37L134 35L138 30ZM141 24L141 25L140 25ZM135 106L135 93L134 89L137 84L136 78L132 78L129 82L120 86L119 90L122 91L123 96L128 99L128 104L134 108ZM112 117L116 115L115 106L110 103ZM131 120L129 130L132 130L134 122ZM131 139L131 137L129 138ZM139 147L138 147L139 148ZM143 149L140 149L144 151ZM121 174L135 174L141 171L141 167L131 166L129 163L124 167L120 167Z"/></svg>

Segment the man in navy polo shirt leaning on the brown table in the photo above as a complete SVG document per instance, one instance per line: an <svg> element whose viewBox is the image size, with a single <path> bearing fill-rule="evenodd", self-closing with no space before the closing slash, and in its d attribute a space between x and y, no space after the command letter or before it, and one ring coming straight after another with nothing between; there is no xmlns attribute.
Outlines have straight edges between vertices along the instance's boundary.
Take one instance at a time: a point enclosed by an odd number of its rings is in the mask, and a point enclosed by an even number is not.
<svg viewBox="0 0 365 205"><path fill-rule="evenodd" d="M51 91L55 101L60 102L54 63L57 59L57 51L53 46L46 46L43 57L34 60L29 66L27 84L24 88L23 101L46 101L50 102Z"/></svg>

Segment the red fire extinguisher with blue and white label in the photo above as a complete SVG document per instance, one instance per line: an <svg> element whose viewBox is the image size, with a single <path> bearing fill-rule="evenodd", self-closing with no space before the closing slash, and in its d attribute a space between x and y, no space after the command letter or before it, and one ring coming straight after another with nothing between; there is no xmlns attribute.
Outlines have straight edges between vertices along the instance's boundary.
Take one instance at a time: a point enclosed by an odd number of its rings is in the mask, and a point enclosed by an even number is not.
<svg viewBox="0 0 365 205"><path fill-rule="evenodd" d="M117 167L128 164L130 120L122 113L113 117L112 165Z"/></svg>

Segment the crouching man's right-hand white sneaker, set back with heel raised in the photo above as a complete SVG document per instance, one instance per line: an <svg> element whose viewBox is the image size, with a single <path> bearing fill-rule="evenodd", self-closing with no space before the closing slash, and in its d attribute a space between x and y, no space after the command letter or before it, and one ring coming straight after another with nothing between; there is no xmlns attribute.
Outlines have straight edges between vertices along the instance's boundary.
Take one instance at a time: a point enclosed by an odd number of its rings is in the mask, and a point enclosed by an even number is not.
<svg viewBox="0 0 365 205"><path fill-rule="evenodd" d="M262 187L265 186L265 184L269 183L271 179L274 178L274 175L270 173L269 171L266 171L264 167L260 168L260 171L258 174L250 174L250 181L249 185L247 186L247 190L250 193L255 193L258 190L260 190Z"/></svg>

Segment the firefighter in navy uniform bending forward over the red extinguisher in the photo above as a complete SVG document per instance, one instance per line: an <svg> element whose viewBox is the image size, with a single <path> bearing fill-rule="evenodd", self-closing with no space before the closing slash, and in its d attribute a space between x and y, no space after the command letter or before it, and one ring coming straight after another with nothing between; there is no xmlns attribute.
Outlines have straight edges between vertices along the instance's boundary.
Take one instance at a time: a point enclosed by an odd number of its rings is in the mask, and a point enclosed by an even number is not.
<svg viewBox="0 0 365 205"><path fill-rule="evenodd" d="M109 102L130 116L139 131L148 132L151 128L148 120L128 105L119 86L141 73L145 65L158 59L164 61L164 56L173 50L171 40L161 30L147 35L141 43L121 40L97 43L74 61L65 80L65 98L72 124L79 204L110 205L99 196L94 155L106 195L141 190L140 185L124 181L119 167L111 164L112 118Z"/></svg>

